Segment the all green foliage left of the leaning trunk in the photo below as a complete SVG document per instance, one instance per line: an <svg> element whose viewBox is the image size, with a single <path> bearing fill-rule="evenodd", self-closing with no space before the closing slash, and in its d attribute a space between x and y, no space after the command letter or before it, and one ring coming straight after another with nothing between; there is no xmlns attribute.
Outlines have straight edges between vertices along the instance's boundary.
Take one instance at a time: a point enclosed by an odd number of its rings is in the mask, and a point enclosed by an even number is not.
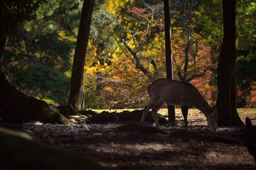
<svg viewBox="0 0 256 170"><path fill-rule="evenodd" d="M6 17L13 32L4 58L13 83L49 103L67 103L70 78L65 71L71 69L81 1L8 1L6 6L8 16L15 15Z"/></svg>

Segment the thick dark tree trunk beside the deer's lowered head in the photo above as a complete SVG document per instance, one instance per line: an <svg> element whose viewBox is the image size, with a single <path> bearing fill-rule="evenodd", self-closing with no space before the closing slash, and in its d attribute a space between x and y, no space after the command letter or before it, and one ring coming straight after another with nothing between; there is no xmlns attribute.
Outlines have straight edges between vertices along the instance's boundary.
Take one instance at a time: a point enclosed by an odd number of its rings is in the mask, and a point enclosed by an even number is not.
<svg viewBox="0 0 256 170"><path fill-rule="evenodd" d="M218 60L219 125L241 125L236 104L236 0L223 0L223 43Z"/></svg>

